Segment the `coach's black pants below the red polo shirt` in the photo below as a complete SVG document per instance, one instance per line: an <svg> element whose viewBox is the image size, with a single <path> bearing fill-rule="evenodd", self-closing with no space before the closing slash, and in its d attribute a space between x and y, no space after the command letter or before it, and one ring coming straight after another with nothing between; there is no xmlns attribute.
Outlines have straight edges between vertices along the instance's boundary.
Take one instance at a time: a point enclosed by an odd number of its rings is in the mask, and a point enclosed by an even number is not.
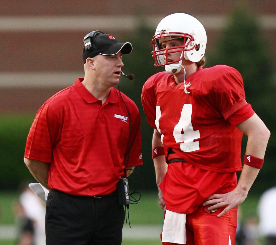
<svg viewBox="0 0 276 245"><path fill-rule="evenodd" d="M46 244L119 245L124 219L124 208L118 205L117 194L97 198L50 190L45 217Z"/></svg>

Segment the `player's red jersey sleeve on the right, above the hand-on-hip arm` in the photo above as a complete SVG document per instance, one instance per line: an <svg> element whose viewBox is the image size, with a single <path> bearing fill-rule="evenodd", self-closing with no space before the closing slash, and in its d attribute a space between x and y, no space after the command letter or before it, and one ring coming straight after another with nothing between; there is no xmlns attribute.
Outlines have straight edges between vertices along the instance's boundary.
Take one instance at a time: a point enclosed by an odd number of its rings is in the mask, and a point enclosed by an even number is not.
<svg viewBox="0 0 276 245"><path fill-rule="evenodd" d="M248 103L245 100L241 74L231 67L226 67L224 70L225 71L220 78L215 81L214 93L216 107L224 119L229 120L231 115L248 105ZM245 114L249 112L248 115L252 113L250 110L240 111L239 113L242 112ZM237 117L239 118L246 118L247 116L237 114ZM250 116L248 116L248 118L249 117ZM231 123L236 123L239 120L240 119L234 119L234 117L231 117Z"/></svg>

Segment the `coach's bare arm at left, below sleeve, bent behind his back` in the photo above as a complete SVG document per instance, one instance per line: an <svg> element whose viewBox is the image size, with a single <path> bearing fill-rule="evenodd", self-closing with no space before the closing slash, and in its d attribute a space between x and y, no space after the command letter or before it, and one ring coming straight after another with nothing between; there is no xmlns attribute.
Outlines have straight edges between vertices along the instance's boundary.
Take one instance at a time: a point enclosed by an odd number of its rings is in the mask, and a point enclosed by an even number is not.
<svg viewBox="0 0 276 245"><path fill-rule="evenodd" d="M33 159L24 158L24 162L35 179L48 188L48 171L50 164Z"/></svg>

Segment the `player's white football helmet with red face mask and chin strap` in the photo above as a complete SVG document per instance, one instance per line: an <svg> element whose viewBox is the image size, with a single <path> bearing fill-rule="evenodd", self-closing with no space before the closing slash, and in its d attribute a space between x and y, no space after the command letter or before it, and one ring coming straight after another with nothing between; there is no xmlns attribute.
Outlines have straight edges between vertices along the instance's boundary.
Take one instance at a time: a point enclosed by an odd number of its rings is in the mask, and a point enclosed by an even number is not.
<svg viewBox="0 0 276 245"><path fill-rule="evenodd" d="M183 38L183 45L162 48L162 42L174 38ZM170 14L159 22L152 39L152 56L155 60L155 66L165 66L168 73L177 73L182 67L183 58L192 62L201 60L205 53L206 43L205 29L196 18L184 13ZM176 52L181 52L180 58L168 62L168 54Z"/></svg>

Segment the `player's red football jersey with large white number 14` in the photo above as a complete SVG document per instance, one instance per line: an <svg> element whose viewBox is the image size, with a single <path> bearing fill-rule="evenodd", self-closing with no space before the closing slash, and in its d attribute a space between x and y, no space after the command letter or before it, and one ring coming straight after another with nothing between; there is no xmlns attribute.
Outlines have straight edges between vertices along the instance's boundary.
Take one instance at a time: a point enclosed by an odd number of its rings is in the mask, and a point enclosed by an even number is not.
<svg viewBox="0 0 276 245"><path fill-rule="evenodd" d="M242 133L236 124L254 111L245 101L243 80L232 67L202 69L176 84L159 72L143 86L142 105L149 125L161 133L165 146L201 169L233 172L242 169ZM242 113L241 113L242 112ZM166 155L165 155L166 157Z"/></svg>

